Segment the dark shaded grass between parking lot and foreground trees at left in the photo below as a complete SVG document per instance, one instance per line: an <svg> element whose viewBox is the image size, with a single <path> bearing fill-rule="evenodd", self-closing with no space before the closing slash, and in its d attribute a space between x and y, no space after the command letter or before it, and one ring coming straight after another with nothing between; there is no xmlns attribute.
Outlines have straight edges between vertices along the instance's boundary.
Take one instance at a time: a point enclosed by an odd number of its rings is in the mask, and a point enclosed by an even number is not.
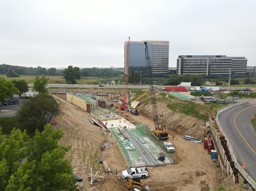
<svg viewBox="0 0 256 191"><path fill-rule="evenodd" d="M17 117L0 118L0 127L2 128L2 132L4 135L10 135L13 128L23 131L23 129L20 128ZM27 134L30 137L33 137L35 135L35 130L27 130Z"/></svg>

